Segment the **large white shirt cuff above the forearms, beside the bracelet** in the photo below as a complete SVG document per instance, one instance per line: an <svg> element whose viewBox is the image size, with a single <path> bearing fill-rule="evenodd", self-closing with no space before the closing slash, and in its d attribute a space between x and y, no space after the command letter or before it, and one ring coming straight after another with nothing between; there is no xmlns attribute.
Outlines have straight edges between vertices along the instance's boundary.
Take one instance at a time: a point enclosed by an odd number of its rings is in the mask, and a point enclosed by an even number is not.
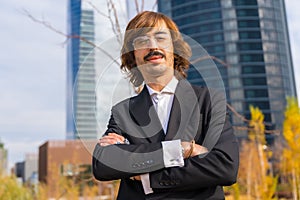
<svg viewBox="0 0 300 200"><path fill-rule="evenodd" d="M183 167L181 140L163 141L161 143L165 167Z"/></svg>

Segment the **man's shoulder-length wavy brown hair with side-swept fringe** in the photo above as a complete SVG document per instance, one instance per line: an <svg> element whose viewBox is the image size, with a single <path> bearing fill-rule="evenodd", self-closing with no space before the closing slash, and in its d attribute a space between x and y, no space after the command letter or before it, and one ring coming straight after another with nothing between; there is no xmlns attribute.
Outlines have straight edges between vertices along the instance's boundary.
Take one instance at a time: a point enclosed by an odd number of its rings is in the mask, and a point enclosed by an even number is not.
<svg viewBox="0 0 300 200"><path fill-rule="evenodd" d="M186 71L189 68L189 58L191 48L183 40L175 22L169 17L151 11L144 11L136 15L127 25L124 35L124 43L121 49L121 70L128 74L130 82L135 86L140 86L144 78L137 68L134 56L133 39L143 33L149 32L152 27L157 27L159 22L165 22L170 30L174 47L174 70L178 79L186 78Z"/></svg>

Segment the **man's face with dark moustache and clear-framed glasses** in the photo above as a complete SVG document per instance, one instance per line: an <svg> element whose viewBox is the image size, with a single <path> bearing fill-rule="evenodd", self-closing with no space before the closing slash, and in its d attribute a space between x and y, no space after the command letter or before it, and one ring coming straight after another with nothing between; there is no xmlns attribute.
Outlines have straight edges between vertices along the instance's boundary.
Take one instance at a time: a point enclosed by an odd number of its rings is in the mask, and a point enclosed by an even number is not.
<svg viewBox="0 0 300 200"><path fill-rule="evenodd" d="M133 40L136 64L145 81L174 75L173 43L165 22Z"/></svg>

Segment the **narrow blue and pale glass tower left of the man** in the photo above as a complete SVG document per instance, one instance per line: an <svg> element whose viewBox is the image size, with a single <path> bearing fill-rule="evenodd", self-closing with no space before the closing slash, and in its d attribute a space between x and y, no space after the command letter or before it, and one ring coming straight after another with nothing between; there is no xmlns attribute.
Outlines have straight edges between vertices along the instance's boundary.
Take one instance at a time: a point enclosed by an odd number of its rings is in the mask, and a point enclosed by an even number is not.
<svg viewBox="0 0 300 200"><path fill-rule="evenodd" d="M94 11L80 0L68 8L67 139L97 138ZM82 39L79 39L80 36Z"/></svg>

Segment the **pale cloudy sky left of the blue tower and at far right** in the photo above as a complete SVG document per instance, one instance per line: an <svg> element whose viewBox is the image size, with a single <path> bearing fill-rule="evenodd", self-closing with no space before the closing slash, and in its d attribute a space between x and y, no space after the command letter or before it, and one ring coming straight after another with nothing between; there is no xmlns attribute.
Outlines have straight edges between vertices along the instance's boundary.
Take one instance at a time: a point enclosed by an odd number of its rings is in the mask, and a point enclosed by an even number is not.
<svg viewBox="0 0 300 200"><path fill-rule="evenodd" d="M300 1L286 0L300 95ZM9 167L47 140L66 137L66 38L30 20L25 10L66 32L67 0L9 0L0 7L0 140Z"/></svg>

